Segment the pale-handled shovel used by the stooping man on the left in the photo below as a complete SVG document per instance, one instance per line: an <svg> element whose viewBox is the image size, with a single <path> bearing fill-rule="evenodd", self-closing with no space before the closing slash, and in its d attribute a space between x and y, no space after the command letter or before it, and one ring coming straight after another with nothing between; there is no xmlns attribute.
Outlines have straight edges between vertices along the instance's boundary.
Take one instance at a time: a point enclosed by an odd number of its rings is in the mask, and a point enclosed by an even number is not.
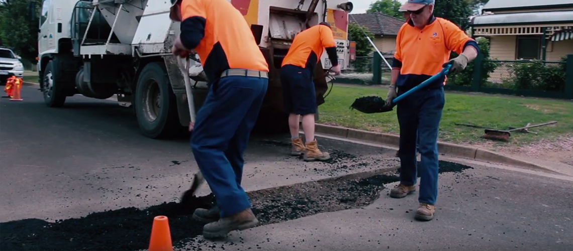
<svg viewBox="0 0 573 251"><path fill-rule="evenodd" d="M191 78L189 77L189 66L191 62L189 61L189 56L186 58L186 62L183 62L183 58L177 57L177 62L179 63L179 69L183 74L185 79L185 91L187 92L187 103L189 105L189 113L191 117L191 122L195 123L195 103L193 102L193 90L191 89ZM199 185L205 182L205 178L199 170L198 173L193 174L193 182L191 183L191 188L183 193L181 197L180 204L188 205L193 203L192 198L195 196L195 191L199 188Z"/></svg>

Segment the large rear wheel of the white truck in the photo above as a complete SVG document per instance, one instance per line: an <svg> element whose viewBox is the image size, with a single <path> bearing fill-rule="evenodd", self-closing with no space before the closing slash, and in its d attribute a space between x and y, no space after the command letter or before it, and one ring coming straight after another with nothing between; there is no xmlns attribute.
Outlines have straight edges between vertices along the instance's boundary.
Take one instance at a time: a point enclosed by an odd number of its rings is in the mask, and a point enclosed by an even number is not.
<svg viewBox="0 0 573 251"><path fill-rule="evenodd" d="M148 138L171 137L182 128L175 94L162 63L148 63L141 71L134 108L139 128Z"/></svg>

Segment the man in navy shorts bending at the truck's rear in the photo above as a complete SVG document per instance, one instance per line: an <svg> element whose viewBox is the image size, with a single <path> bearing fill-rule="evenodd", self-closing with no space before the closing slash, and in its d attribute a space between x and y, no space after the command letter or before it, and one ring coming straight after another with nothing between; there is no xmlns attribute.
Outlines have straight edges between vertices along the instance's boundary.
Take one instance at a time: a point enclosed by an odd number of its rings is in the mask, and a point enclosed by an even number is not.
<svg viewBox="0 0 573 251"><path fill-rule="evenodd" d="M292 150L295 156L304 155L305 161L325 161L330 158L321 152L315 139L316 90L313 73L316 63L326 50L335 74L340 74L336 43L327 22L310 27L295 36L282 60L281 84L284 107L288 112ZM299 137L299 118L303 115L306 144Z"/></svg>

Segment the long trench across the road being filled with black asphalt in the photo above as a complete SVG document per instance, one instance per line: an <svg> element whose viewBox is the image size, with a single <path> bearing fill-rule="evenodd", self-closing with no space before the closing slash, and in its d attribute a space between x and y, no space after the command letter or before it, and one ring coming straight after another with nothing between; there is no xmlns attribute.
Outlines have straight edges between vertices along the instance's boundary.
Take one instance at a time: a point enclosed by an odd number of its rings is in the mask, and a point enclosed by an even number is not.
<svg viewBox="0 0 573 251"><path fill-rule="evenodd" d="M439 173L462 172L469 166L439 161ZM360 208L379 197L398 173L355 180L312 181L249 193L261 225L313 214ZM1 250L142 250L147 249L155 216L169 219L174 246L202 234L203 225L191 218L196 208L209 208L212 194L195 198L191 206L177 202L147 209L123 208L57 222L26 219L0 223ZM202 239L200 239L202 240Z"/></svg>

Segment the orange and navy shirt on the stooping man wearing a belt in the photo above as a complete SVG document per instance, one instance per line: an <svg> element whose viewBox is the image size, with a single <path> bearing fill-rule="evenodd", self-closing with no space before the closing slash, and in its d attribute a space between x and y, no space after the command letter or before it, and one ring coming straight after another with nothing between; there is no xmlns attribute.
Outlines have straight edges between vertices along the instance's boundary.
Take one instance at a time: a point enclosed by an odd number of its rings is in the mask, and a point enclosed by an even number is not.
<svg viewBox="0 0 573 251"><path fill-rule="evenodd" d="M269 71L243 15L226 0L183 0L180 39L201 58L209 82L227 69Z"/></svg>

